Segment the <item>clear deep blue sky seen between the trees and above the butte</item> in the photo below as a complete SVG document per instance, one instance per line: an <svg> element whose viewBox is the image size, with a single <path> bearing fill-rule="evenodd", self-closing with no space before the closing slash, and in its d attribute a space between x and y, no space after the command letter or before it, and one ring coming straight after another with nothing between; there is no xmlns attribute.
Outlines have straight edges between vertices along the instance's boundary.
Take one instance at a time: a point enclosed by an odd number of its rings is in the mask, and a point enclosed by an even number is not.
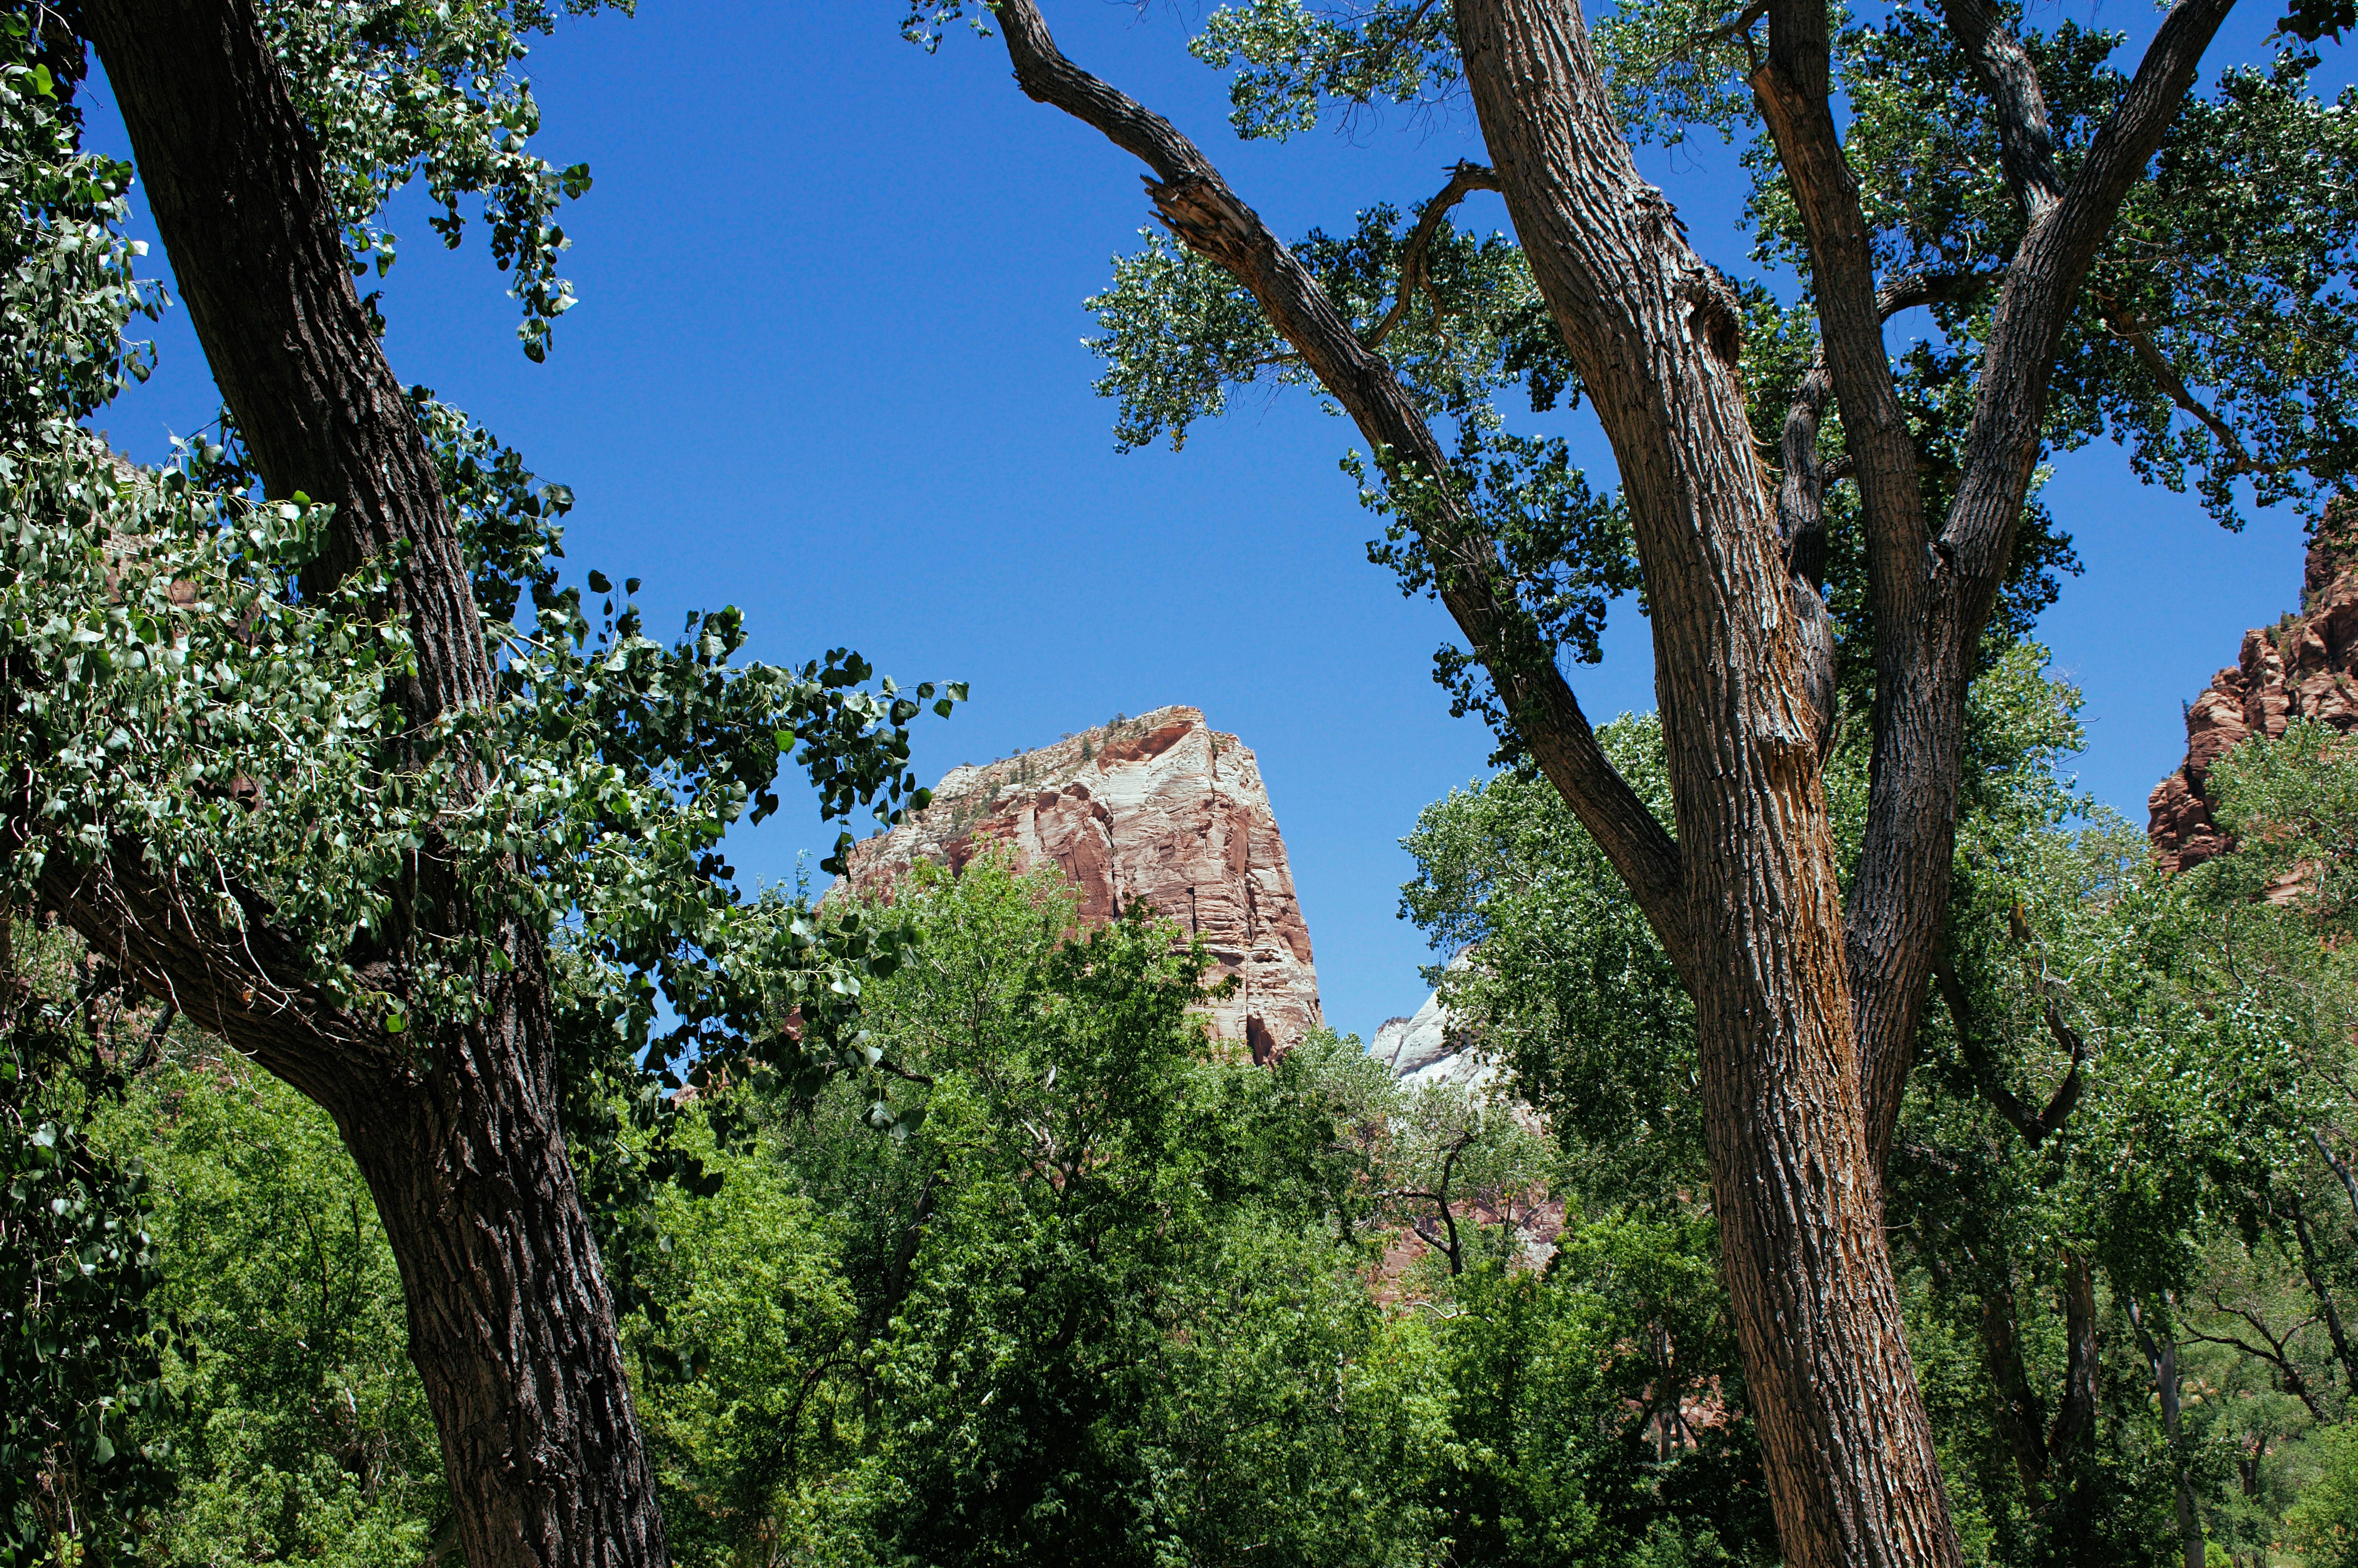
<svg viewBox="0 0 2358 1568"><path fill-rule="evenodd" d="M1448 620L1365 564L1372 519L1337 472L1356 431L1309 394L1240 398L1177 455L1113 450L1080 302L1137 245L1139 167L1023 99L995 40L901 42L901 9L644 0L542 40L538 149L597 179L564 217L582 304L528 363L481 226L446 255L403 200L394 370L571 483L571 568L644 578L658 634L736 604L759 658L849 644L903 681L971 681L971 705L920 729L927 778L1115 712L1203 707L1262 759L1328 1019L1365 1037L1415 1009L1429 962L1396 917L1398 839L1490 750L1429 677ZM2247 9L2212 68L2261 59L2278 7ZM1238 144L1224 78L1181 52L1193 12L1047 12L1073 59L1196 134L1280 233L1412 207L1483 156L1467 113ZM2094 19L2150 31L2146 7ZM104 85L92 141L125 151ZM1651 156L1648 174L1707 255L1743 262L1731 149ZM1488 196L1467 217L1504 226ZM153 238L144 210L134 231ZM184 316L158 344L158 377L106 417L141 460L217 408ZM1594 427L1563 429L1608 479ZM2110 450L2066 457L2047 500L2087 564L2042 627L2087 691L2082 780L2143 821L2184 752L2181 703L2294 606L2299 523L2226 535ZM1634 604L1575 689L1596 719L1653 707ZM736 863L788 879L832 837L790 806L738 835Z"/></svg>

